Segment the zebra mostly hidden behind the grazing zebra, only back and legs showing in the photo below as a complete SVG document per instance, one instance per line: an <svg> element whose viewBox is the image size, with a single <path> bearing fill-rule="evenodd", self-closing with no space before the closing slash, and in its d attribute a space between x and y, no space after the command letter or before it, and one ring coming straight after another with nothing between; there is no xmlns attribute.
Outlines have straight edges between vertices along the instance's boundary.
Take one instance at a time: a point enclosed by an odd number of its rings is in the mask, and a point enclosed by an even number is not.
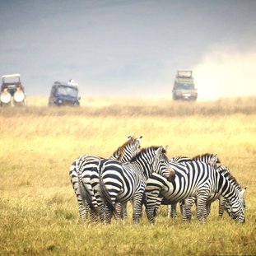
<svg viewBox="0 0 256 256"><path fill-rule="evenodd" d="M170 158L170 162L184 163L186 161L202 161L212 166L221 164L221 160L218 158L218 156L216 154L210 154L210 153L193 156L192 158L189 158L187 156L176 156L176 157ZM191 197L191 198L186 198L181 202L179 202L180 212L183 215L184 221L189 220L189 216L191 217L191 207L195 201L196 201L196 198ZM223 202L221 202L220 207L223 208L222 206L223 206ZM210 210L211 210L211 205L207 205L207 211L209 211L209 213L210 213ZM175 219L175 217L177 216L176 203L173 203L167 206L167 216L169 218L171 217Z"/></svg>

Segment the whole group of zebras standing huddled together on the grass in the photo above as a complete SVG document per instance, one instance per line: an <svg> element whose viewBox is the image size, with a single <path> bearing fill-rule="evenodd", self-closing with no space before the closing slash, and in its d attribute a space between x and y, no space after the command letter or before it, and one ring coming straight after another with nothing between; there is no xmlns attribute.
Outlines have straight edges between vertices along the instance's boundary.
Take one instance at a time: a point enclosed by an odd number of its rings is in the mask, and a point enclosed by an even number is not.
<svg viewBox="0 0 256 256"><path fill-rule="evenodd" d="M147 219L155 223L160 205L168 205L168 216L177 216L179 202L184 221L191 220L196 204L197 219L207 221L211 204L219 199L219 216L226 211L244 222L244 191L216 155L168 158L166 147L141 147L142 136L128 136L109 159L82 155L73 161L69 176L77 196L82 221L109 224L112 217L127 217L133 205L133 223L138 224L145 206Z"/></svg>

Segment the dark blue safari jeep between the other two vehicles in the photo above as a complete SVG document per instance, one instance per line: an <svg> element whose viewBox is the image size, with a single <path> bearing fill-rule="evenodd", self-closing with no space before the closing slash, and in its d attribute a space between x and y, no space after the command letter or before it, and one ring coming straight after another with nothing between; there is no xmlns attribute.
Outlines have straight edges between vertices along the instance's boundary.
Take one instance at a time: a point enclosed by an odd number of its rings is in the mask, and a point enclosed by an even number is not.
<svg viewBox="0 0 256 256"><path fill-rule="evenodd" d="M80 105L78 97L78 86L73 80L68 82L55 81L49 95L49 106L54 105Z"/></svg>

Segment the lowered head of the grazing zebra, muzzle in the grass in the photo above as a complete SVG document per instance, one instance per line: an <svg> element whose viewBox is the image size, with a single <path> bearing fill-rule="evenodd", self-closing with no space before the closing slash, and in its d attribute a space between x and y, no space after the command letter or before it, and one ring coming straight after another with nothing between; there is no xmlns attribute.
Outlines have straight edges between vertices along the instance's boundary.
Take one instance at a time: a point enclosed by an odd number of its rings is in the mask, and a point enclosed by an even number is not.
<svg viewBox="0 0 256 256"><path fill-rule="evenodd" d="M245 200L244 200L244 192L245 189L237 190L238 197L234 198L233 200L227 200L225 203L226 211L228 212L229 216L237 221L244 223L245 222L245 216L244 216L244 210L245 210Z"/></svg>

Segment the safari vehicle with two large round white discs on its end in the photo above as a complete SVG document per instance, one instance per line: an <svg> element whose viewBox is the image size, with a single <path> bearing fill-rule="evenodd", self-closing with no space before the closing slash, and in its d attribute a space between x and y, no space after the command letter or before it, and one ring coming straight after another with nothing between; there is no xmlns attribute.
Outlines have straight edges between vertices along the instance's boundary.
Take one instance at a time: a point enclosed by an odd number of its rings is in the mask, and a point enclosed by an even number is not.
<svg viewBox="0 0 256 256"><path fill-rule="evenodd" d="M2 76L0 102L1 106L26 105L26 94L20 74Z"/></svg>

